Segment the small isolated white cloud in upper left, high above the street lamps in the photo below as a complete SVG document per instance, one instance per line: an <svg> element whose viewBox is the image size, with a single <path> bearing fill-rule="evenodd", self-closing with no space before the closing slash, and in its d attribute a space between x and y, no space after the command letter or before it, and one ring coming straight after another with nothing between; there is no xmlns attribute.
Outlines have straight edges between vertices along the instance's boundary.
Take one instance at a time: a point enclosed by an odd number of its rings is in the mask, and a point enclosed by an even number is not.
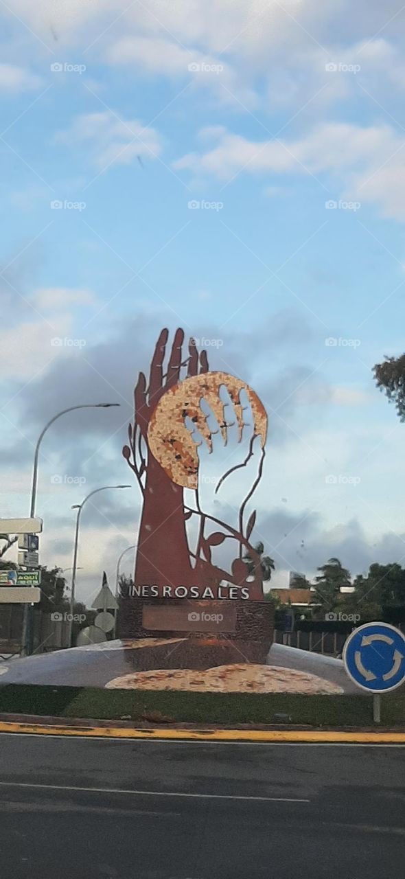
<svg viewBox="0 0 405 879"><path fill-rule="evenodd" d="M112 163L129 164L136 156L155 158L162 151L155 128L143 127L139 120L119 119L112 111L82 113L66 131L55 135L55 142L88 142L93 160L103 169Z"/></svg>

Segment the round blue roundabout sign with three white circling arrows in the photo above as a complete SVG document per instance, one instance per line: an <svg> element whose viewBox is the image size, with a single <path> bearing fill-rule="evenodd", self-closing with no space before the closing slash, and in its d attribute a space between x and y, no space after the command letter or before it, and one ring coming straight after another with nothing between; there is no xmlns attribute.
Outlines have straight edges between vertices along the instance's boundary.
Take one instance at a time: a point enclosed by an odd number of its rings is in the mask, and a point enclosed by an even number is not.
<svg viewBox="0 0 405 879"><path fill-rule="evenodd" d="M387 622L366 622L344 644L344 667L367 693L389 693L405 681L405 636Z"/></svg>

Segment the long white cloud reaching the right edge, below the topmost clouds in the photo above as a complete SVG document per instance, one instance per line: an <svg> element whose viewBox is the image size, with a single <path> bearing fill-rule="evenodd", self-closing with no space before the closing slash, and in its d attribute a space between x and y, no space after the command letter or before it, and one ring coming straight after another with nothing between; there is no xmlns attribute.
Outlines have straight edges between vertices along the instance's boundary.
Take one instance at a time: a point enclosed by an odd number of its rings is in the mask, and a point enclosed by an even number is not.
<svg viewBox="0 0 405 879"><path fill-rule="evenodd" d="M329 175L329 187L344 199L375 203L383 215L405 221L405 135L388 125L360 127L327 122L300 139L249 141L224 133L213 149L188 153L177 171L229 180L248 174Z"/></svg>

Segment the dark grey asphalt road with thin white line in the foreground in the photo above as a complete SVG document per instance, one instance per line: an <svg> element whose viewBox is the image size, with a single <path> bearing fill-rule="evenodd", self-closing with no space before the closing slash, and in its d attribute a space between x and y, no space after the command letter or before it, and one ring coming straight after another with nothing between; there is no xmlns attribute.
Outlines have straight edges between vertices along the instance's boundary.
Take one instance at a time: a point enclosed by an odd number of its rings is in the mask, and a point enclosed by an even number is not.
<svg viewBox="0 0 405 879"><path fill-rule="evenodd" d="M403 879L405 752L0 735L2 879Z"/></svg>

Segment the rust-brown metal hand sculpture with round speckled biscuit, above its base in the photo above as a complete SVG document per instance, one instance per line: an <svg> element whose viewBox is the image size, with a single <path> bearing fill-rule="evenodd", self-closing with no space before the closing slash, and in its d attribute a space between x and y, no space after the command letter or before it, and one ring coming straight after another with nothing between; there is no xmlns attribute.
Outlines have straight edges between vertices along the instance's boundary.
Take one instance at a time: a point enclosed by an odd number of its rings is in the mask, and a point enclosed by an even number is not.
<svg viewBox="0 0 405 879"><path fill-rule="evenodd" d="M188 356L184 358L182 330L176 332L164 372L168 338L169 332L163 330L155 345L148 383L143 373L139 375L134 390L134 426L129 425L129 445L123 448L123 455L134 471L143 498L134 582L138 585L155 584L159 590L163 585L207 585L212 588L213 595L217 594L221 582L239 588L249 583L250 598L263 599L260 559L250 544L256 512L251 513L246 526L244 513L262 476L267 432L264 406L255 391L240 379L228 373L209 372L206 352L199 352L193 339L188 345ZM257 437L260 437L262 450L257 479L242 501L237 528L208 515L199 504L196 436L200 442L206 443L210 452L213 450L213 432L201 401L210 407L226 444L230 424L224 415L221 387L228 390L233 403L239 441L246 426L241 391L246 394L253 416L253 436L246 459L221 477L217 490L231 472L244 467L250 460ZM188 430L186 421L193 425L193 432ZM185 489L194 491L195 507L184 503ZM186 528L186 522L193 516L199 521L195 553L189 547ZM206 529L213 525L221 530L206 535ZM230 571L222 570L212 562L212 548L226 538L234 540L237 545L237 557ZM243 554L252 559L253 575L248 573L248 567L242 561Z"/></svg>

